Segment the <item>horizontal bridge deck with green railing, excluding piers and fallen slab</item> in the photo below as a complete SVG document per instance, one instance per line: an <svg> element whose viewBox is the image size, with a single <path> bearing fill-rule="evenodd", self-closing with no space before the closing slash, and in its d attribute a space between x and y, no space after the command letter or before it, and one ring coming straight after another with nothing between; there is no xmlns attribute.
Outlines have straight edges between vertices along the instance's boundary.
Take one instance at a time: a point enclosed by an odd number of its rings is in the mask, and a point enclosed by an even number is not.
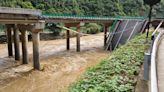
<svg viewBox="0 0 164 92"><path fill-rule="evenodd" d="M24 24L37 23L44 20L46 23L102 23L111 24L114 20L147 20L146 17L130 16L80 16L69 14L44 14L41 10L0 7L0 23L3 24ZM159 22L164 18L152 18L153 21ZM158 24L158 23L157 23Z"/></svg>

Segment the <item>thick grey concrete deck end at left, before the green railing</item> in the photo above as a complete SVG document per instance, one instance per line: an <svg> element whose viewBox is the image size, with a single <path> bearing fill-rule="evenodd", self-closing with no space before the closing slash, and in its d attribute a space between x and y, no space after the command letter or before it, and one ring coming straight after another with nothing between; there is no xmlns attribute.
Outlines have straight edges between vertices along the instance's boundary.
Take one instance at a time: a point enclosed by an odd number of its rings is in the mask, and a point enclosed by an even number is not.
<svg viewBox="0 0 164 92"><path fill-rule="evenodd" d="M0 7L0 23L24 24L38 23L42 15L40 10Z"/></svg>

